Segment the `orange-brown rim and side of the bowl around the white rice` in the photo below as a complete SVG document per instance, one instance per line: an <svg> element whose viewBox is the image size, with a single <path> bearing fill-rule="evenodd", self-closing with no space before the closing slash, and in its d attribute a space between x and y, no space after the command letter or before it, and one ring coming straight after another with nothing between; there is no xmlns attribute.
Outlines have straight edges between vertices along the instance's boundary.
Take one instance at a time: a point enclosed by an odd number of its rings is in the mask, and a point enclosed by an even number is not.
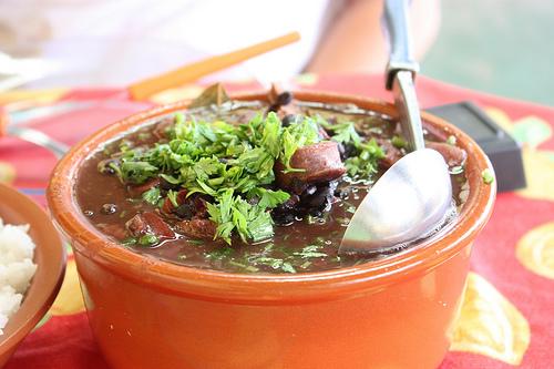
<svg viewBox="0 0 554 369"><path fill-rule="evenodd" d="M65 271L65 252L47 213L32 199L4 184L0 184L0 217L4 224L29 224L29 235L37 245L33 258L37 271L21 307L0 336L1 368L54 301Z"/></svg>

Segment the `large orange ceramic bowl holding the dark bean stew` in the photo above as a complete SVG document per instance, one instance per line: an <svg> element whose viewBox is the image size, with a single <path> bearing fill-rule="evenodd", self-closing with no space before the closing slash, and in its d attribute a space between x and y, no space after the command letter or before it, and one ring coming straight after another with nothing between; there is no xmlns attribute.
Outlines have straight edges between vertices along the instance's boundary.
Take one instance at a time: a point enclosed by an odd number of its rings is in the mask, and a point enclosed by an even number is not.
<svg viewBox="0 0 554 369"><path fill-rule="evenodd" d="M266 94L237 96L264 100ZM298 92L298 100L351 102L397 115L365 98ZM53 172L48 201L71 239L93 334L113 368L434 368L449 348L472 243L495 187L491 165L465 134L423 113L468 154L469 198L455 224L427 245L379 262L322 273L242 275L143 257L110 242L81 215L74 178L106 140L187 102L120 121L74 146Z"/></svg>

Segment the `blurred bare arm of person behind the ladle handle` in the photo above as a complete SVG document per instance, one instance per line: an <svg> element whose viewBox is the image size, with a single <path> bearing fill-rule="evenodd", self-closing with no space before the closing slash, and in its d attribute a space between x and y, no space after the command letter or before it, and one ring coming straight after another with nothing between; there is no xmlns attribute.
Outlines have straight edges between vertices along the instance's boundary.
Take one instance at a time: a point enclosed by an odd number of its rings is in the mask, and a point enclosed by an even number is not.
<svg viewBox="0 0 554 369"><path fill-rule="evenodd" d="M382 72L389 59L382 33L382 0L353 0L331 20L307 71ZM416 58L429 50L440 24L440 0L413 0L410 11Z"/></svg>

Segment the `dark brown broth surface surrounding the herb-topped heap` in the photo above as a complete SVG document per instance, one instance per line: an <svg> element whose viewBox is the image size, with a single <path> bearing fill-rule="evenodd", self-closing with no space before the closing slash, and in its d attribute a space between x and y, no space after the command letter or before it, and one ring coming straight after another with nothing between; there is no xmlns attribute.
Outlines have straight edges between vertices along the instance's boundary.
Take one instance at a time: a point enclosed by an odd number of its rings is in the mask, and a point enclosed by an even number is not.
<svg viewBox="0 0 554 369"><path fill-rule="evenodd" d="M330 123L351 121L356 130L366 139L377 139L381 144L392 146L393 137L399 134L397 122L390 117L358 109L353 105L322 105L318 103L298 103L297 110L306 115L319 115ZM223 106L208 106L184 112L187 119L197 121L225 121L232 124L244 124L268 105L263 102L229 102ZM173 114L147 122L140 129L106 143L94 152L81 168L75 184L75 196L83 214L90 222L110 238L122 244L122 247L160 258L168 263L234 273L306 273L336 269L366 263L368 256L339 256L338 247L348 222L356 212L371 184L387 165L382 165L372 181L352 180L348 175L335 183L318 184L318 192L332 191L330 209L316 214L295 215L294 221L277 222L286 225L274 226L274 236L261 242L245 243L233 237L230 245L223 239L198 239L179 233L175 238L164 239L155 245L138 245L130 238L125 226L137 213L152 212L160 214L160 204L152 205L143 201L141 195L130 193L113 173L101 173L99 165L110 160L122 145L127 147L148 147L167 140L156 134L161 125L171 122ZM425 132L425 140L441 142L451 137L441 136L440 132ZM454 145L453 142L450 142ZM391 148L389 148L391 150ZM406 153L399 150L400 153ZM468 195L468 184L461 165L451 165L453 202L460 207ZM326 187L327 186L327 187ZM308 188L309 189L309 188ZM306 189L306 191L308 191ZM287 215L289 216L289 215ZM275 215L274 215L275 219ZM283 221L283 219L280 219ZM175 229L178 218L164 217L164 222ZM400 247L401 248L401 247ZM372 258L375 258L373 256ZM377 256L383 257L383 256Z"/></svg>

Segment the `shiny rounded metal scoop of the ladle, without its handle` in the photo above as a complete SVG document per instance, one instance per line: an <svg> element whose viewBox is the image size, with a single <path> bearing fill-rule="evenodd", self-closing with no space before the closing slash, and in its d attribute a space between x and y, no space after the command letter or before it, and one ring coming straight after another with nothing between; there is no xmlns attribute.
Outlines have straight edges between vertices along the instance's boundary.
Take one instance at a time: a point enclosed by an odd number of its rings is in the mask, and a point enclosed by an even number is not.
<svg viewBox="0 0 554 369"><path fill-rule="evenodd" d="M366 195L339 253L381 253L423 238L444 223L451 207L452 186L442 155L431 148L411 152Z"/></svg>

